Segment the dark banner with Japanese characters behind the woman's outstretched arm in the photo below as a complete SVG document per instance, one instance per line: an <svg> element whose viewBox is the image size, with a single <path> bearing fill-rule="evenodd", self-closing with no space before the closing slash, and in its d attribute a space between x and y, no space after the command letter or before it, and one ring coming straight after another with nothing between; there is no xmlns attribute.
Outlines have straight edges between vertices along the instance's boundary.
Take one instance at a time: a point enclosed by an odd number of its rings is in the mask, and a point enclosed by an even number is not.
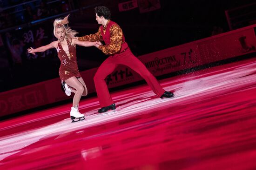
<svg viewBox="0 0 256 170"><path fill-rule="evenodd" d="M49 49L45 52L37 52L35 55L27 53L27 48L45 46L56 40L53 34L53 28L46 25L36 25L31 28L24 28L6 32L3 34L8 50L10 51L13 62L22 59L28 62L38 58L50 58L55 56L55 49Z"/></svg>

